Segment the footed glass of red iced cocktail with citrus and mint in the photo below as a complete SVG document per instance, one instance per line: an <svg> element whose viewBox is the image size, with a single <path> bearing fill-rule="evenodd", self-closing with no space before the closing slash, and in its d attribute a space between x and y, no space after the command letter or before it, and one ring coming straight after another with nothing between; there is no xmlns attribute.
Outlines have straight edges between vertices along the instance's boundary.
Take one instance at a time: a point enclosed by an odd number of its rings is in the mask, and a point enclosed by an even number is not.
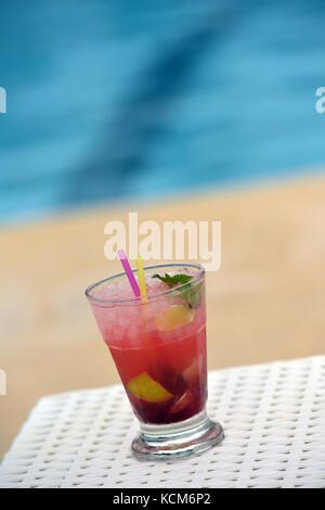
<svg viewBox="0 0 325 510"><path fill-rule="evenodd" d="M223 438L206 412L205 270L169 264L144 272L147 299L132 295L126 273L90 285L86 295L140 422L133 454L145 460L187 457ZM156 276L166 273L188 278L170 284Z"/></svg>

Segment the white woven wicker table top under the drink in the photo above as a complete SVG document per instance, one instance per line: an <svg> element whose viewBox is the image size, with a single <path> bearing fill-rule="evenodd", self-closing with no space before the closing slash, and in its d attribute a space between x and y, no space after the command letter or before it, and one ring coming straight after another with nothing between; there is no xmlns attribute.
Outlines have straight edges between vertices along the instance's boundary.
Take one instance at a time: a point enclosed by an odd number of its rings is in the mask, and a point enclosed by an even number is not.
<svg viewBox="0 0 325 510"><path fill-rule="evenodd" d="M209 373L225 439L141 462L121 385L44 397L0 467L1 487L325 487L325 356Z"/></svg>

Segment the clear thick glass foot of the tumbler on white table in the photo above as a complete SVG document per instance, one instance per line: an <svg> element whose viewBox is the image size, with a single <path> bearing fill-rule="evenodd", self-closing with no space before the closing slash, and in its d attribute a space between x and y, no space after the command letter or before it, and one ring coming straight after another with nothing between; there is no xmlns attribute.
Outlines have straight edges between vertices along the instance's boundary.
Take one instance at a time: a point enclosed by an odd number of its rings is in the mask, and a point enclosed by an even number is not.
<svg viewBox="0 0 325 510"><path fill-rule="evenodd" d="M188 420L168 425L141 423L132 451L140 460L190 457L208 450L223 437L222 426L211 421L204 409Z"/></svg>

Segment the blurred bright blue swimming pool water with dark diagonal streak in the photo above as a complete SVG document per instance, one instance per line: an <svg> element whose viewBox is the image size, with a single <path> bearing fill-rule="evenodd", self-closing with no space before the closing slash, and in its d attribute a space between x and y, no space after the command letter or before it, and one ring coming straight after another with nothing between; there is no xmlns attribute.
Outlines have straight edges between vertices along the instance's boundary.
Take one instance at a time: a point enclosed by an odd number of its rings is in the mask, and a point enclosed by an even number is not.
<svg viewBox="0 0 325 510"><path fill-rule="evenodd" d="M321 0L4 0L1 11L2 222L325 162Z"/></svg>

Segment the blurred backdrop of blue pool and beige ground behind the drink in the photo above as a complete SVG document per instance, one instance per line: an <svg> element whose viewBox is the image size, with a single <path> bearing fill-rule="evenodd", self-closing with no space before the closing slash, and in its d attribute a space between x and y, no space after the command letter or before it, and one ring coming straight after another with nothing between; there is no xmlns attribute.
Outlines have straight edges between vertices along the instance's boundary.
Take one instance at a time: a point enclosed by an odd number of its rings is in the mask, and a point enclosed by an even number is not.
<svg viewBox="0 0 325 510"><path fill-rule="evenodd" d="M104 226L221 220L209 368L324 353L322 0L1 2L0 457L42 395L118 382L83 297Z"/></svg>

